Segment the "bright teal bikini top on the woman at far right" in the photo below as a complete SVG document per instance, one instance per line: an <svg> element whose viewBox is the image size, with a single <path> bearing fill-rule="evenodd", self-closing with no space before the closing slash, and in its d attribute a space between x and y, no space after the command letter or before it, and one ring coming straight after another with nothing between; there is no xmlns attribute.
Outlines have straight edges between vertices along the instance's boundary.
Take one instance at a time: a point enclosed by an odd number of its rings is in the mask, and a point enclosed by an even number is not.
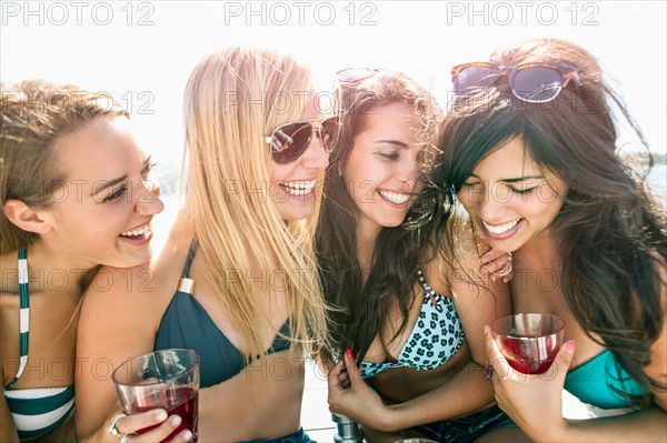
<svg viewBox="0 0 667 443"><path fill-rule="evenodd" d="M610 350L603 351L575 368L565 377L565 389L584 403L600 409L629 407L630 403L617 389L631 395L643 395L641 386L616 363Z"/></svg>

